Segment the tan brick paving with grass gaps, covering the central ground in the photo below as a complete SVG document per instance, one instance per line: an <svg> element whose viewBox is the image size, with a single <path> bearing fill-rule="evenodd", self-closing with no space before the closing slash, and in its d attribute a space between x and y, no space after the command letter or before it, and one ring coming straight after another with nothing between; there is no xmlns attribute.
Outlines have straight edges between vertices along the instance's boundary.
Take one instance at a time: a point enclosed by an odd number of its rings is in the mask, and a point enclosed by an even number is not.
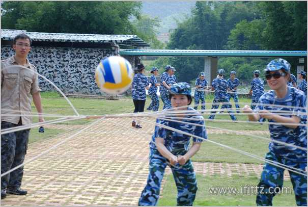
<svg viewBox="0 0 308 207"><path fill-rule="evenodd" d="M48 125L68 130L53 139L29 145L26 160L73 135L83 125ZM117 205L135 206L148 176L152 124L131 127L128 118L104 119L37 160L26 164L22 189L25 196L8 195L5 206ZM227 133L208 130L208 133ZM254 131L251 133L258 132ZM259 133L260 135L260 133ZM257 164L193 163L204 175L260 175ZM171 173L168 168L166 173ZM164 181L163 181L164 182ZM163 185L162 185L163 186ZM162 189L163 190L163 189Z"/></svg>

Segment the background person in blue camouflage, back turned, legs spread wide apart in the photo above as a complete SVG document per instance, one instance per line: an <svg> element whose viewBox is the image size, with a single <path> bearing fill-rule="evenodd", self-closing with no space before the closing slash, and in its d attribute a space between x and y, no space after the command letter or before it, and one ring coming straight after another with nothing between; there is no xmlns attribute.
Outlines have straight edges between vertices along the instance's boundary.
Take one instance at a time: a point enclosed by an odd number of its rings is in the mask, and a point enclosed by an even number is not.
<svg viewBox="0 0 308 207"><path fill-rule="evenodd" d="M229 101L229 96L227 94L227 89L229 88L229 84L225 79L223 79L224 73L225 73L225 70L219 69L218 70L218 78L216 78L212 81L212 90L215 91L212 109L218 109L220 102L222 102L221 108L223 108L223 109L232 108L230 101ZM229 113L231 119L233 121L236 121L236 117L235 117L234 113L231 110L229 110L228 113ZM211 115L209 116L209 119L214 119L215 114L216 114L216 111L212 111Z"/></svg>

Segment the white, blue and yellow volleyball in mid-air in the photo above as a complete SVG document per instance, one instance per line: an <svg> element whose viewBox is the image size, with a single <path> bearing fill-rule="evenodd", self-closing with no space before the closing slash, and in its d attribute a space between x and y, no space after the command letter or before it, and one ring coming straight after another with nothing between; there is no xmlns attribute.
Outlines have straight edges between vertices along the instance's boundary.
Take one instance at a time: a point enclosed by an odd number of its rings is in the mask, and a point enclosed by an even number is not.
<svg viewBox="0 0 308 207"><path fill-rule="evenodd" d="M95 70L95 82L105 93L125 92L133 80L131 64L123 57L110 56L100 61Z"/></svg>

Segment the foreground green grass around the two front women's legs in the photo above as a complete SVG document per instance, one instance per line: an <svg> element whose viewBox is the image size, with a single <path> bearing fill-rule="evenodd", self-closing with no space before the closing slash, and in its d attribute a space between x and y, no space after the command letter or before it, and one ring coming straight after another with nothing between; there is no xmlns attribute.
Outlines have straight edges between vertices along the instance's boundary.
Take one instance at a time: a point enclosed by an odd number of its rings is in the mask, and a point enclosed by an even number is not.
<svg viewBox="0 0 308 207"><path fill-rule="evenodd" d="M159 206L175 206L177 189L173 179L173 175L165 177L166 183L163 186L163 192L159 198ZM240 194L214 194L209 188L224 187L237 189L240 192L241 187L245 185L247 187L255 187L259 183L259 178L256 176L232 176L223 177L218 175L203 176L197 174L198 180L198 191L197 196L194 200L195 206L255 206L256 205L256 194L250 188L250 192L245 190L245 195ZM273 199L274 206L295 206L295 196L290 181L284 182L284 187L290 187L289 193L276 195ZM244 188L242 188L244 189ZM247 189L247 188L246 188ZM242 190L244 192L244 190ZM254 189L255 192L255 189ZM290 193L291 192L291 193Z"/></svg>

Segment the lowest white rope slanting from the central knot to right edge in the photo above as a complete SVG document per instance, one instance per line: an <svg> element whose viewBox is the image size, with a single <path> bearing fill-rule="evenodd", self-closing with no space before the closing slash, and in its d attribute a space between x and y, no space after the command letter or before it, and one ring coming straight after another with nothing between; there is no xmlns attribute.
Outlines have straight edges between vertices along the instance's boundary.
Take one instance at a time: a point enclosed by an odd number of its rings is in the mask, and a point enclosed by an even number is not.
<svg viewBox="0 0 308 207"><path fill-rule="evenodd" d="M146 120L146 119L143 119L143 118L138 118L138 119L153 124L153 122L150 122L150 121L148 121L148 120ZM292 169L289 169L289 168L286 168L286 167L283 167L283 166L279 166L278 164L281 164L281 163L273 162L273 161L270 161L270 160L267 160L267 159L264 159L264 158L259 158L258 156L255 156L254 154L251 154L251 153L248 153L248 152L245 152L245 151L242 151L242 150L239 150L239 149L236 149L236 148L233 148L233 147L224 145L224 144L220 144L220 143L214 142L214 141L212 141L212 140L204 139L203 137L199 137L199 136L196 136L196 135L187 133L187 132L183 132L183 131L177 130L176 128L173 128L173 127L170 127L170 126L165 126L165 125L159 124L159 123L157 123L157 122L154 122L154 124L157 125L157 126L166 128L167 130L171 130L171 131L178 132L178 133L181 133L181 134L184 134L184 135L188 135L188 136L190 136L190 137L202 139L202 140L204 140L204 141L207 141L207 142L210 142L210 143L213 143L213 144L216 144L216 145L219 145L219 146L222 146L222 147L231 149L231 150L233 150L233 151L236 151L236 152L245 154L245 155L248 156L248 157L255 158L255 159L258 159L258 160L262 160L262 161L264 161L264 162L266 162L266 163L269 163L269 164L271 164L271 165L274 165L274 166L276 166L276 167L280 167L280 168L283 168L283 169L287 169L287 170L292 171L292 172L294 172L294 173L297 173L297 174L300 174L300 175L303 175L303 176L307 176L306 174L303 174L303 173L301 173L301 172L294 171L294 170L292 170ZM277 164L276 164L276 163L277 163Z"/></svg>

